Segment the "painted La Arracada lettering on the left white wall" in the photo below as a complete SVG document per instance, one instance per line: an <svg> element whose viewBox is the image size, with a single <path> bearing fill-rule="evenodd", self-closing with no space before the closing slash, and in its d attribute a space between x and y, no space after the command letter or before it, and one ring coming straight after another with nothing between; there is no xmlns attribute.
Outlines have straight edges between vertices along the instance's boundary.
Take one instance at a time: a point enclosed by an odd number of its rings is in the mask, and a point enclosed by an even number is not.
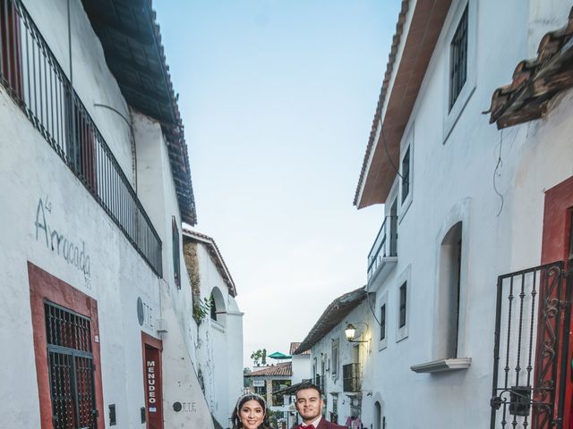
<svg viewBox="0 0 573 429"><path fill-rule="evenodd" d="M36 209L36 241L46 242L46 247L58 256L64 257L65 261L75 266L83 273L86 286L90 287L90 256L86 254L86 245L81 241L81 245L70 240L67 236L55 230L47 219L47 214L52 214L52 203L46 197L38 200Z"/></svg>

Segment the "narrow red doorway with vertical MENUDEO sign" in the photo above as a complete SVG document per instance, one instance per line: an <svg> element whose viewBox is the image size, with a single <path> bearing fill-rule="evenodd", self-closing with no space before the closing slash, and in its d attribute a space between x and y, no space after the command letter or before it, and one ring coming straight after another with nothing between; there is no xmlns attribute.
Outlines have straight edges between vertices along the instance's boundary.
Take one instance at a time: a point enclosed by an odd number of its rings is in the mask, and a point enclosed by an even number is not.
<svg viewBox="0 0 573 429"><path fill-rule="evenodd" d="M150 350L150 353L148 352ZM161 352L163 342L151 335L141 332L141 357L143 363L143 390L145 391L145 421L148 429L163 429L163 371ZM148 385L148 359L155 362L153 385L155 388L155 401L150 403L150 386ZM157 412L150 414L150 407L155 406Z"/></svg>

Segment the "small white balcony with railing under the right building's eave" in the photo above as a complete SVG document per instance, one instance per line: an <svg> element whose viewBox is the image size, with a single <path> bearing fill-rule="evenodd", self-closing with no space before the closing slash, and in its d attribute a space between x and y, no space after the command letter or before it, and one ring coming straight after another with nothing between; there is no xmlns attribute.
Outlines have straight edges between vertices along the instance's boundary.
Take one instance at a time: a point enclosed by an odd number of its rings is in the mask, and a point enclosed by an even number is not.
<svg viewBox="0 0 573 429"><path fill-rule="evenodd" d="M396 265L397 229L398 216L386 216L368 254L368 282L371 282L379 272L389 273L389 270Z"/></svg>

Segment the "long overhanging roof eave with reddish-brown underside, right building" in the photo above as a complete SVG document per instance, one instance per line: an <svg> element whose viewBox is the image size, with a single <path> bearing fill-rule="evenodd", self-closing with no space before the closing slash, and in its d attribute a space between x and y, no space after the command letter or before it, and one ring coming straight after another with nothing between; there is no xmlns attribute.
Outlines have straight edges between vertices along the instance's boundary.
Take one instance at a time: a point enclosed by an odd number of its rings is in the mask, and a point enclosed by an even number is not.
<svg viewBox="0 0 573 429"><path fill-rule="evenodd" d="M388 197L397 173L400 139L414 108L415 99L448 14L451 0L415 2L412 21L403 42L404 49L397 64L398 47L402 43L409 4L410 1L403 0L398 15L396 34L392 40L384 83L355 191L354 205L358 208L384 203ZM393 74L394 83L392 88L389 88ZM381 118L384 107L386 111ZM383 134L381 133L379 139L375 141L380 120Z"/></svg>

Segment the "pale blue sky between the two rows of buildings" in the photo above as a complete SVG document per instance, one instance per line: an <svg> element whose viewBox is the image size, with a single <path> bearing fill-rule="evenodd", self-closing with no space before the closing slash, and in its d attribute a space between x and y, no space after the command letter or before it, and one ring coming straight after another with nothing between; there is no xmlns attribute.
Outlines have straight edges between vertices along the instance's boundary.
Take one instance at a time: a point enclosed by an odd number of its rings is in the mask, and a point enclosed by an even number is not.
<svg viewBox="0 0 573 429"><path fill-rule="evenodd" d="M383 206L356 184L399 0L155 0L189 147L252 351L288 353L366 282ZM350 321L349 321L350 322Z"/></svg>

